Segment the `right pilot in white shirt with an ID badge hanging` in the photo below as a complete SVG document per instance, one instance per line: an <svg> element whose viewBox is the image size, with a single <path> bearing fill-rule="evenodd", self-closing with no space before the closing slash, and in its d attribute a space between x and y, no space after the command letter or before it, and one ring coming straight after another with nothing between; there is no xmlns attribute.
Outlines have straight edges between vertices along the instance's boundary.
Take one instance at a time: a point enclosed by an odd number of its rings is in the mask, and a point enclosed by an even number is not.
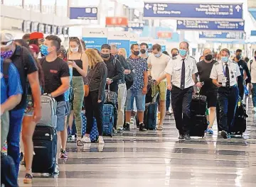
<svg viewBox="0 0 256 187"><path fill-rule="evenodd" d="M223 138L230 138L230 126L235 118L235 108L238 104L238 81L240 69L238 63L228 60L230 51L223 49L220 51L221 60L213 65L210 79L213 84L219 87L218 103L220 106L220 128Z"/></svg>

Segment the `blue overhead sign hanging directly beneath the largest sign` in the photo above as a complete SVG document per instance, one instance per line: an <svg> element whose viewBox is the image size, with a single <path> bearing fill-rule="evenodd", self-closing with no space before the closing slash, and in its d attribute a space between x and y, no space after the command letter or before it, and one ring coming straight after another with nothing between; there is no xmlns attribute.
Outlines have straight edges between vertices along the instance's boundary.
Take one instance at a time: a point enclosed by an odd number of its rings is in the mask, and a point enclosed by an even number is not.
<svg viewBox="0 0 256 187"><path fill-rule="evenodd" d="M178 20L177 30L244 31L245 21L194 21Z"/></svg>

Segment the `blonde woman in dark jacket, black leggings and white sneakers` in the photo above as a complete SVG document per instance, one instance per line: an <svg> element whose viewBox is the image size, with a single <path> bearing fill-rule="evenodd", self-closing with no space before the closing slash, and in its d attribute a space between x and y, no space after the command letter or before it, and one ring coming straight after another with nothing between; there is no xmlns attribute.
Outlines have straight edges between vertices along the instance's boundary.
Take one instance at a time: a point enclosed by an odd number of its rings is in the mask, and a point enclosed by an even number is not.
<svg viewBox="0 0 256 187"><path fill-rule="evenodd" d="M99 144L104 144L103 140L103 104L105 102L105 86L107 81L107 66L102 57L94 49L85 50L90 71L87 74L85 85L89 86L89 94L85 97L85 116L87 118L85 137L86 143L90 143L90 132L92 130L93 117L96 118L97 130L99 132Z"/></svg>

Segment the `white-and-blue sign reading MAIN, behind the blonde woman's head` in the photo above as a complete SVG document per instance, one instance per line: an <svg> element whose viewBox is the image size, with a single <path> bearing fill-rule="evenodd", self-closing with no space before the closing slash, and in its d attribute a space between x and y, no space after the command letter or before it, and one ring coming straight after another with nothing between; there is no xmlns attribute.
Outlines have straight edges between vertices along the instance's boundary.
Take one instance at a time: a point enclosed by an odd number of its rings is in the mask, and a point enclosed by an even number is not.
<svg viewBox="0 0 256 187"><path fill-rule="evenodd" d="M107 29L82 28L82 40L85 41L86 48L101 50L101 46L107 43Z"/></svg>

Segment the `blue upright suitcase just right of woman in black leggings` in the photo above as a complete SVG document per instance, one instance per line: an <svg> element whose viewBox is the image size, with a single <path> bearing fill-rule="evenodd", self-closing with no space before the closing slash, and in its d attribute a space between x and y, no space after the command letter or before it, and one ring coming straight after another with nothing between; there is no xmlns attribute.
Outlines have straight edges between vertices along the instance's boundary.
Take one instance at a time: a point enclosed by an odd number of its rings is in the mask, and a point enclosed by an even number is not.
<svg viewBox="0 0 256 187"><path fill-rule="evenodd" d="M103 135L112 137L114 127L114 106L104 104L103 106Z"/></svg>

